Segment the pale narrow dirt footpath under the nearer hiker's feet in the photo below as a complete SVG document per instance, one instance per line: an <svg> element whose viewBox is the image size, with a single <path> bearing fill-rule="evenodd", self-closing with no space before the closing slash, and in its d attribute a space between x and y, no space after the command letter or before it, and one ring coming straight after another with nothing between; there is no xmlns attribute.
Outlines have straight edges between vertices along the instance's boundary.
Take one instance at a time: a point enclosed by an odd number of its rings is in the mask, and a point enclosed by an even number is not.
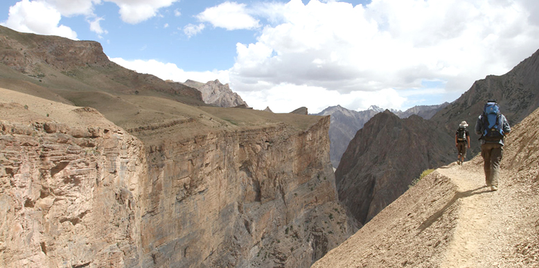
<svg viewBox="0 0 539 268"><path fill-rule="evenodd" d="M513 193L514 188L508 187L504 172L500 189L491 191L481 165L464 163L437 171L458 186L461 202L459 221L440 267L518 267L510 259L521 239L519 225L525 211L513 202L519 197Z"/></svg>

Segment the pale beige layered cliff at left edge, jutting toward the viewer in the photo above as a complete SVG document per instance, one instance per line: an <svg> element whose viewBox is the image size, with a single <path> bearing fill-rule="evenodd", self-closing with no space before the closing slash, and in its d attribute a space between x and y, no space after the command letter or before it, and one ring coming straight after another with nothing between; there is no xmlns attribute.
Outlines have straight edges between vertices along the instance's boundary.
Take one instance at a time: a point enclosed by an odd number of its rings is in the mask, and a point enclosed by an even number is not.
<svg viewBox="0 0 539 268"><path fill-rule="evenodd" d="M63 114L78 123L0 103L0 266L134 267L143 145L95 109Z"/></svg>

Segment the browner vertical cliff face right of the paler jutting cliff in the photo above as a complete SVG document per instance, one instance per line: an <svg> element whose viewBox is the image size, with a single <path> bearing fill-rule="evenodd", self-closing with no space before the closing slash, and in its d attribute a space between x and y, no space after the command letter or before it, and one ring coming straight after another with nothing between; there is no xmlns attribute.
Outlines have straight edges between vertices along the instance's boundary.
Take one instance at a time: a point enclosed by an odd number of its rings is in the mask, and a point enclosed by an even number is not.
<svg viewBox="0 0 539 268"><path fill-rule="evenodd" d="M150 150L143 266L310 267L352 231L337 204L328 125L218 132Z"/></svg>

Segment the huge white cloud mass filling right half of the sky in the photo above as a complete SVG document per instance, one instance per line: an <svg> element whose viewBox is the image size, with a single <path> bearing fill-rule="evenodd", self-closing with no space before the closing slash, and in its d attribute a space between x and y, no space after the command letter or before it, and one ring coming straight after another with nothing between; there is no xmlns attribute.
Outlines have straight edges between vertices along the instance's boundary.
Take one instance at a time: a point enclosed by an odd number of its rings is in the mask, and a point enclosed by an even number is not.
<svg viewBox="0 0 539 268"><path fill-rule="evenodd" d="M256 42L236 46L231 87L242 98L260 100L277 100L270 92L283 85L288 94L316 89L321 98L339 94L346 96L343 101L365 98L361 92L378 92L375 96L382 98L392 89L393 105L377 105L395 108L413 97L410 89L425 89L428 80L444 82L444 89L434 92L461 93L475 80L501 75L536 51L534 18L539 14L532 3L537 7L531 0L271 3L256 13L271 25ZM364 108L360 102L348 109Z"/></svg>

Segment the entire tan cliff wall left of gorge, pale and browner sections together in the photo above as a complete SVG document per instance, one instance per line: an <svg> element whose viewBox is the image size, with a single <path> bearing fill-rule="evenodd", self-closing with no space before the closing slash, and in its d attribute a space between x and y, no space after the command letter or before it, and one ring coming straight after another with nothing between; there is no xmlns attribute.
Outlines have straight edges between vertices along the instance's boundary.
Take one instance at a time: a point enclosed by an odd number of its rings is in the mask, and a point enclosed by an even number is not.
<svg viewBox="0 0 539 268"><path fill-rule="evenodd" d="M329 117L200 114L130 129L141 142L95 109L0 91L0 266L310 267L355 230Z"/></svg>

